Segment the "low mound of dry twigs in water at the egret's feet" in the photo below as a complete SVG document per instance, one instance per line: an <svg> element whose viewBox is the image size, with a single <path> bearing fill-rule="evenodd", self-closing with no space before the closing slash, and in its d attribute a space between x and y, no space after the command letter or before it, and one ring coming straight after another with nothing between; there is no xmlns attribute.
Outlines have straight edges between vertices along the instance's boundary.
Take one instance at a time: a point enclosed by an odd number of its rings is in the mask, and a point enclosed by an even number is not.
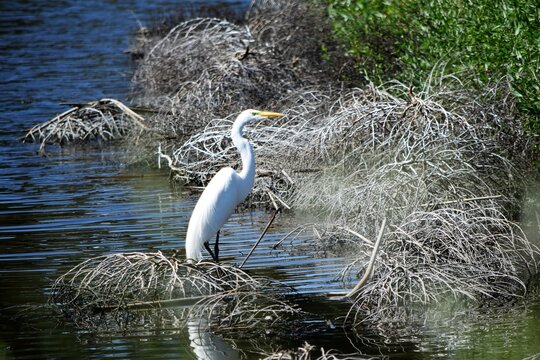
<svg viewBox="0 0 540 360"><path fill-rule="evenodd" d="M120 253L91 258L59 277L51 302L84 328L105 324L125 330L158 312L161 322L197 319L213 329L246 330L299 314L279 289L234 266L191 264L161 252Z"/></svg>

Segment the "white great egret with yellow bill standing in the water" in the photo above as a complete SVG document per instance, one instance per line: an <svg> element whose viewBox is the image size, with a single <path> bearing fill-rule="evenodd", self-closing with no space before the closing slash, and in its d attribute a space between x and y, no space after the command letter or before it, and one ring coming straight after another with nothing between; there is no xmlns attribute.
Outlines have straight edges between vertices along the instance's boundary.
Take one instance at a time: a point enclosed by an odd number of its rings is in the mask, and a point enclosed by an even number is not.
<svg viewBox="0 0 540 360"><path fill-rule="evenodd" d="M219 230L225 224L234 209L249 195L255 181L255 155L253 146L242 136L244 126L252 121L283 114L244 110L238 115L231 130L234 146L242 157L242 171L236 172L230 167L223 168L212 178L204 189L189 220L186 236L186 258L202 259L203 247L212 258L219 261ZM214 251L208 241L216 235Z"/></svg>

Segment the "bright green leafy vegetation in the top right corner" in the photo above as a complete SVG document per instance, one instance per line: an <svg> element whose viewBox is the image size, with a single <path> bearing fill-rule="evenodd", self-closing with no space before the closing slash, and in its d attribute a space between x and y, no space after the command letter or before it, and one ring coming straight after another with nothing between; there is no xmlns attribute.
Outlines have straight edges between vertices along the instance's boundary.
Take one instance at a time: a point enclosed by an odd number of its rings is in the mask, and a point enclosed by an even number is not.
<svg viewBox="0 0 540 360"><path fill-rule="evenodd" d="M418 86L433 69L477 86L508 77L527 128L540 134L535 0L325 1L335 33L372 80Z"/></svg>

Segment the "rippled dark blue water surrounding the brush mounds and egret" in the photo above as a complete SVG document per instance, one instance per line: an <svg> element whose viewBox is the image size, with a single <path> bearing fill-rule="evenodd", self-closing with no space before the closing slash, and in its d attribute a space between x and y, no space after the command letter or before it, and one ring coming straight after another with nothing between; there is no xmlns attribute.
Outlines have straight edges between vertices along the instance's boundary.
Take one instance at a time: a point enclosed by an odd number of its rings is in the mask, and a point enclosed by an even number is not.
<svg viewBox="0 0 540 360"><path fill-rule="evenodd" d="M64 111L61 102L126 99L132 69L123 51L130 35L179 3L204 2L0 3L0 359L258 357L252 342L201 333L193 322L96 334L62 321L46 305L52 282L81 261L183 248L197 194L171 188L166 172L126 166L114 148L52 147L40 157L37 145L18 141L24 129ZM262 211L233 216L221 239L226 261L243 259L268 217ZM318 315L304 330L268 335L266 349L308 341L366 357L520 359L540 353L538 304L497 318L448 321L455 314L440 312L446 320L388 336L373 330L377 324L343 333L334 317L348 305L323 294L341 289L336 274L344 260L270 249L295 222L291 215L279 219L246 268L294 287L294 300Z"/></svg>

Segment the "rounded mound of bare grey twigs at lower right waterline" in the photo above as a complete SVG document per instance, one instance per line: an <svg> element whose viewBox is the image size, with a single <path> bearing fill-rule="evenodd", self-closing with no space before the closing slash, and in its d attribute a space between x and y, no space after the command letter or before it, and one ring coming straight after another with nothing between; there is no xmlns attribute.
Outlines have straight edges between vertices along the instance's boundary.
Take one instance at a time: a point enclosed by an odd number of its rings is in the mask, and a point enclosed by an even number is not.
<svg viewBox="0 0 540 360"><path fill-rule="evenodd" d="M538 271L539 249L493 208L415 212L390 229L377 270L355 297L355 322L398 319L413 304L449 296L504 303L524 296Z"/></svg>

